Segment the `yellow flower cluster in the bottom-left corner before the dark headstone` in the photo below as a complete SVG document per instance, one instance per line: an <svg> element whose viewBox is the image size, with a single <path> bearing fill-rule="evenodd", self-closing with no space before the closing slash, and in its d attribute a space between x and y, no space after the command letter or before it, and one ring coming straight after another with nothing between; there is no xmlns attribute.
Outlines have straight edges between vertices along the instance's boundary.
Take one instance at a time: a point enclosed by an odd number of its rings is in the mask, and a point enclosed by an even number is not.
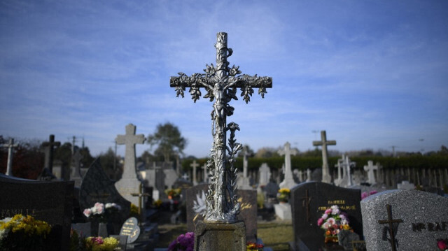
<svg viewBox="0 0 448 251"><path fill-rule="evenodd" d="M0 220L0 250L46 250L51 226L31 215Z"/></svg>

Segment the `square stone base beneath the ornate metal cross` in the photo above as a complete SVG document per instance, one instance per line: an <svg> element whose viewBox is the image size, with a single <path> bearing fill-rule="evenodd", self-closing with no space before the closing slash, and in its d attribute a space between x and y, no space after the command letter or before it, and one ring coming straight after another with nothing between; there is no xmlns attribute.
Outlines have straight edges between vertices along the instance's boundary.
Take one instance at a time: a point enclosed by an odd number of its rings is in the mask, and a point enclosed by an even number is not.
<svg viewBox="0 0 448 251"><path fill-rule="evenodd" d="M246 251L246 226L244 222L197 222L195 251Z"/></svg>

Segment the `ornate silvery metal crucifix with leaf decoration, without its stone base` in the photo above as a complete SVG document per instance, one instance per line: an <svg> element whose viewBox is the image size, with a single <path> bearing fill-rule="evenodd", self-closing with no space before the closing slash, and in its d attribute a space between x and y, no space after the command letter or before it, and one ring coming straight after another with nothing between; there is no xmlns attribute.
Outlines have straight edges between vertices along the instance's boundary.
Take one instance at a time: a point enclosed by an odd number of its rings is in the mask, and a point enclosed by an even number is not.
<svg viewBox="0 0 448 251"><path fill-rule="evenodd" d="M194 73L188 77L185 73L171 77L169 85L176 88L177 96L183 97L186 87L190 87L193 101L200 99L200 88L204 88L207 94L204 98L214 101L211 111L212 130L214 138L211 149L211 159L207 168L211 171L211 182L207 194L207 211L204 222L235 222L239 213L237 201L237 168L235 158L242 145L235 140L235 131L239 130L238 124L227 124L227 116L233 114L234 108L229 105L232 99L237 100L237 88L241 89L243 100L248 103L253 94L253 88L259 88L258 94L264 98L266 88L272 87L272 78L240 75L239 66L228 67L227 58L232 55L232 49L227 47L227 33L220 32L216 35L216 66L207 64L205 73ZM230 131L229 145L226 145L227 131ZM227 156L227 152L230 155Z"/></svg>

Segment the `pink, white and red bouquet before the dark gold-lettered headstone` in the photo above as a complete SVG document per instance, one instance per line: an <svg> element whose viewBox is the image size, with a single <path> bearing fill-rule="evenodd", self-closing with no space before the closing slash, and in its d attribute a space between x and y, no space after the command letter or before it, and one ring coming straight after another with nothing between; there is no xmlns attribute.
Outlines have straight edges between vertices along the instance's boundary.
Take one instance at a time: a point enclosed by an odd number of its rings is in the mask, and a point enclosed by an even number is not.
<svg viewBox="0 0 448 251"><path fill-rule="evenodd" d="M342 213L337 205L325 210L325 213L318 218L317 225L325 231L325 243L337 243L339 231L351 230L346 213Z"/></svg>

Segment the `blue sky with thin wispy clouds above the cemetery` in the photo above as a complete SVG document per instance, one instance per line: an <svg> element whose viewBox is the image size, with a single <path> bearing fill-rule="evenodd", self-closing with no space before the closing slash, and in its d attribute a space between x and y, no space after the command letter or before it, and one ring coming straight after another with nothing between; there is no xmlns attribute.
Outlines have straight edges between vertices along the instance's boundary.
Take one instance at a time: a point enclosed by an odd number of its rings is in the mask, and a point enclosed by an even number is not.
<svg viewBox="0 0 448 251"><path fill-rule="evenodd" d="M326 130L342 152L448 145L445 0L2 0L0 135L84 137L97 155L128 123L172 122L205 157L211 102L176 98L169 77L215 63L220 31L230 66L273 79L265 99L230 103L240 143L304 151Z"/></svg>

